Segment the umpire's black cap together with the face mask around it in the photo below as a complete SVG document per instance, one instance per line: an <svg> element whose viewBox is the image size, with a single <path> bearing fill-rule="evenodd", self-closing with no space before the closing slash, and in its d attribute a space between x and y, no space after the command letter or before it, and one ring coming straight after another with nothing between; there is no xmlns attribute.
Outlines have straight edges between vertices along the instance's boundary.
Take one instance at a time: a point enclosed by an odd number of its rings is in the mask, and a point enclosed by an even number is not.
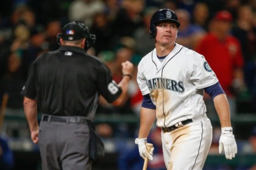
<svg viewBox="0 0 256 170"><path fill-rule="evenodd" d="M90 30L83 22L73 21L64 25L62 33L57 35L57 42L60 44L60 38L66 41L76 41L85 38L85 50L90 49L95 43L96 36L90 33Z"/></svg>

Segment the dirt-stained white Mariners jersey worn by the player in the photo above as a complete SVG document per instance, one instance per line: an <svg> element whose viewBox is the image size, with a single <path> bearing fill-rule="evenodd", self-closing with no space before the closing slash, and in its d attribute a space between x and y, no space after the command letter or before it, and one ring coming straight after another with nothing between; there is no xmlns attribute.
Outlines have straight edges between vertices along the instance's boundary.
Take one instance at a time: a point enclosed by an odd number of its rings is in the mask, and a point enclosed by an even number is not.
<svg viewBox="0 0 256 170"><path fill-rule="evenodd" d="M206 112L204 88L218 83L204 56L176 43L163 61L156 49L138 64L137 82L156 106L157 126L169 127Z"/></svg>

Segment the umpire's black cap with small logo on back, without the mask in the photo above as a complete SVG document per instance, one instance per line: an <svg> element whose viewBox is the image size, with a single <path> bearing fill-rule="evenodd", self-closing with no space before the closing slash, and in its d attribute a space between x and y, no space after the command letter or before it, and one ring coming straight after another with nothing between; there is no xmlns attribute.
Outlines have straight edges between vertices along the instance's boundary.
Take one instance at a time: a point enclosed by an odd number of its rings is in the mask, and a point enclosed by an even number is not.
<svg viewBox="0 0 256 170"><path fill-rule="evenodd" d="M69 22L62 29L62 39L66 41L75 41L85 38L85 32L77 21Z"/></svg>

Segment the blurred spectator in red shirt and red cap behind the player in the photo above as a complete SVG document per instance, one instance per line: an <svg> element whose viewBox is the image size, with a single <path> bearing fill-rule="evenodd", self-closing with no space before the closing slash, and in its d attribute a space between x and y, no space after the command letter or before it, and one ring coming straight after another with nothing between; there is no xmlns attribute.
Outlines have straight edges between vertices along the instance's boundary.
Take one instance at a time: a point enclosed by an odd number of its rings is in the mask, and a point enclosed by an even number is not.
<svg viewBox="0 0 256 170"><path fill-rule="evenodd" d="M205 56L216 73L230 104L230 112L236 114L235 95L243 90L243 56L238 39L230 35L232 15L219 11L210 23L210 30L202 38L196 51ZM213 103L205 98L208 112L215 112ZM212 108L212 109L210 109Z"/></svg>

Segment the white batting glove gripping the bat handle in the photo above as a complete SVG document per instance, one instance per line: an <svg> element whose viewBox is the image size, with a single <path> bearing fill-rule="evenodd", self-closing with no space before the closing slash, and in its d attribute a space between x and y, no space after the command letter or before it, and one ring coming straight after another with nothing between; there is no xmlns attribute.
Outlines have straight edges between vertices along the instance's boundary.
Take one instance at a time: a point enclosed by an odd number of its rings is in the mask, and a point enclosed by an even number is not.
<svg viewBox="0 0 256 170"><path fill-rule="evenodd" d="M138 149L140 152L140 156L143 157L143 159L148 158L149 160L153 160L153 151L154 147L151 148L150 151L148 151L146 147L147 138L136 138L135 144L138 144Z"/></svg>

